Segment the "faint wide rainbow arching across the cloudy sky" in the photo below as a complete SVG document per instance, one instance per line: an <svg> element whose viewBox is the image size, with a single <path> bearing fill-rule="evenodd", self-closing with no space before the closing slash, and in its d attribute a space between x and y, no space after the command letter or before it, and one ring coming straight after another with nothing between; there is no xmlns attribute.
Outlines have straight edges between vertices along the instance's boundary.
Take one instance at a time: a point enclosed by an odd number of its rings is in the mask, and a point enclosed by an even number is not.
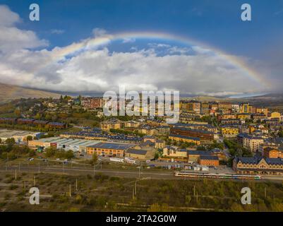
<svg viewBox="0 0 283 226"><path fill-rule="evenodd" d="M66 56L75 56L76 53L81 51L87 51L88 49L95 49L101 47L105 44L113 42L114 40L126 40L126 39L151 39L151 40L165 40L165 41L174 41L179 42L180 44L186 44L190 46L199 46L203 47L211 52L213 52L217 57L220 57L227 63L235 66L237 69L240 69L241 72L248 78L253 79L253 81L258 82L260 85L265 86L265 88L270 87L263 76L260 76L258 72L251 69L246 65L245 62L241 61L238 57L233 57L229 54L222 52L219 49L210 47L207 44L198 42L188 37L181 37L176 35L171 35L164 32L121 32L114 35L103 35L102 37L94 37L83 40L81 42L75 42L66 47L56 47L52 49L52 58L46 64L42 64L40 68L47 66L54 61L64 60Z"/></svg>

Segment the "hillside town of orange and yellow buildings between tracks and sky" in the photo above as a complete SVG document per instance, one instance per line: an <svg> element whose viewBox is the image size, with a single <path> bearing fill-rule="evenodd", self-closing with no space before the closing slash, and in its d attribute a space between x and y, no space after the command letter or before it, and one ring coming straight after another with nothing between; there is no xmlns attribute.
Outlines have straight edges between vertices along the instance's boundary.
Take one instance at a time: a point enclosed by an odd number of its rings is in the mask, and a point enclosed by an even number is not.
<svg viewBox="0 0 283 226"><path fill-rule="evenodd" d="M33 155L71 152L65 163L95 155L95 161L117 165L173 169L179 177L283 175L280 112L248 102L181 100L178 123L167 124L166 116L105 117L103 105L102 97L81 96L2 105L9 117L0 118L1 159L20 156L7 151L14 143Z"/></svg>

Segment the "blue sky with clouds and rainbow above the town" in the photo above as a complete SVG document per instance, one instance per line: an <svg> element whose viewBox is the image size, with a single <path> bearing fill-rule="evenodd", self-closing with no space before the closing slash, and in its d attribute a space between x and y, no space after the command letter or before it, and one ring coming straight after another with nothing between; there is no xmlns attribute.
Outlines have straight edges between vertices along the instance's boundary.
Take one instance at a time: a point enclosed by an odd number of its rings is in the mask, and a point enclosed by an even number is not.
<svg viewBox="0 0 283 226"><path fill-rule="evenodd" d="M0 0L0 78L68 93L282 93L283 0Z"/></svg>

